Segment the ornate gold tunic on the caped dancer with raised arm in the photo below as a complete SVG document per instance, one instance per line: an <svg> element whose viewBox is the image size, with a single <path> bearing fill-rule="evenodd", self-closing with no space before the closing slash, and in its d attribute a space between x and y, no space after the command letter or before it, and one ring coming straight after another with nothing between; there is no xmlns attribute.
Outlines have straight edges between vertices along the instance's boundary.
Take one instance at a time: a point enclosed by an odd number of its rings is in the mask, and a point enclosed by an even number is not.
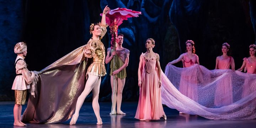
<svg viewBox="0 0 256 128"><path fill-rule="evenodd" d="M101 37L105 35L107 32L105 26L101 26ZM96 76L105 76L106 68L105 68L105 47L103 43L98 40L90 39L86 44L86 49L91 50L91 54L86 54L84 52L85 57L92 58L93 62L87 69L86 74L96 75ZM86 50L85 50L86 51Z"/></svg>

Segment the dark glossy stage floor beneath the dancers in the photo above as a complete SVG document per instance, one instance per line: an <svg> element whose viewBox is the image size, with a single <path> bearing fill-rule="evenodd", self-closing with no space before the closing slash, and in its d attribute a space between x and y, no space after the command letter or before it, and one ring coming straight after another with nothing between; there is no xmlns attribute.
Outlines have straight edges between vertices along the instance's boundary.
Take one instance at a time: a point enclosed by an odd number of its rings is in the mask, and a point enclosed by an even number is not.
<svg viewBox="0 0 256 128"><path fill-rule="evenodd" d="M109 115L111 102L100 102L100 115L103 125L97 126L97 119L92 109L91 102L85 102L80 110L76 125L69 126L69 121L59 124L30 124L28 128L253 128L256 119L248 120L210 120L200 116L179 114L177 110L164 107L167 121L145 122L135 119L138 102L123 102L123 115ZM27 105L23 105L24 111ZM0 128L12 128L14 102L0 102ZM23 112L22 111L22 112ZM21 127L15 127L21 128Z"/></svg>

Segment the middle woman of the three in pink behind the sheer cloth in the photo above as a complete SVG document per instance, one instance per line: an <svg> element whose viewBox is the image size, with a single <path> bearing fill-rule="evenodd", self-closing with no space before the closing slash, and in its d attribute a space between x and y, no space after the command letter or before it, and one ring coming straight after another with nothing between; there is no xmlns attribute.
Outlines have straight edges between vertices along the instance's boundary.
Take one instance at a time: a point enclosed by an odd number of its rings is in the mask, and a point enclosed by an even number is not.
<svg viewBox="0 0 256 128"><path fill-rule="evenodd" d="M222 55L216 58L215 69L231 69L235 70L235 62L229 54L230 45L228 43L222 44ZM233 90L232 90L232 79L230 75L224 75L226 79L218 82L216 85L214 105L217 107L230 105L233 103Z"/></svg>

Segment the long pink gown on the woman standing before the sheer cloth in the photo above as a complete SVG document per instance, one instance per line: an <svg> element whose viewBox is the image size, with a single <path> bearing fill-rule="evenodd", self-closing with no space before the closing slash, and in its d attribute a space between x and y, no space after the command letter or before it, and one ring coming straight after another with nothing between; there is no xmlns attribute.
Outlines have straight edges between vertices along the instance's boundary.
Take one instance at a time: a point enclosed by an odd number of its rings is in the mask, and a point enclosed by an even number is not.
<svg viewBox="0 0 256 128"><path fill-rule="evenodd" d="M143 53L140 55L140 58L143 58L143 69L139 102L135 114L136 119L157 120L164 115L155 57L156 54L153 58L145 58Z"/></svg>

